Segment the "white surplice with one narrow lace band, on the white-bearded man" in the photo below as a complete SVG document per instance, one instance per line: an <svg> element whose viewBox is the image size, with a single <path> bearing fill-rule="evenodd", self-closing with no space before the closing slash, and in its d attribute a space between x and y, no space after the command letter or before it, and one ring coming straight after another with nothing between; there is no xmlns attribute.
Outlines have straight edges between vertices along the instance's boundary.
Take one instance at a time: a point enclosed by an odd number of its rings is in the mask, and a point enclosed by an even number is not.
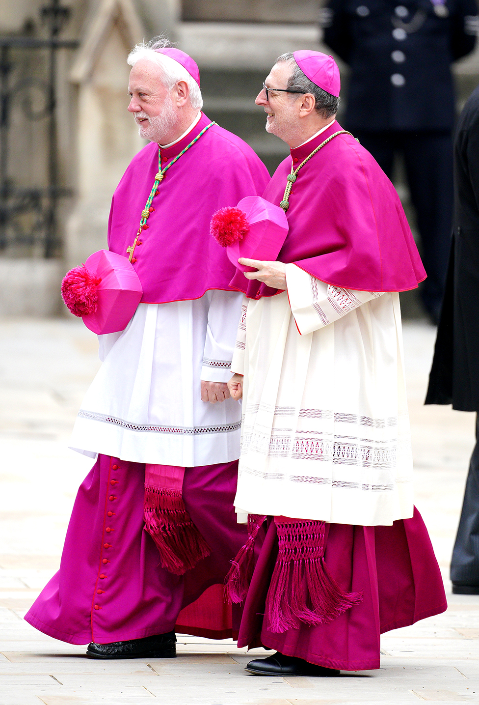
<svg viewBox="0 0 479 705"><path fill-rule="evenodd" d="M139 304L121 333L100 338L104 361L70 447L133 462L194 467L239 455L241 405L201 401L200 381L226 382L242 295Z"/></svg>

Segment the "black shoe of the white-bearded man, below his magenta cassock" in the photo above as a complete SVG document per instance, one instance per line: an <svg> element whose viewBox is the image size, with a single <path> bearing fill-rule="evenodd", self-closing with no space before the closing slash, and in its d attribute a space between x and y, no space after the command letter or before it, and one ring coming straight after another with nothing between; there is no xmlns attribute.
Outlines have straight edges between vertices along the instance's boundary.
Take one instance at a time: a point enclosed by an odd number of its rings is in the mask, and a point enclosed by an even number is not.
<svg viewBox="0 0 479 705"><path fill-rule="evenodd" d="M176 658L175 632L111 644L89 644L91 658Z"/></svg>

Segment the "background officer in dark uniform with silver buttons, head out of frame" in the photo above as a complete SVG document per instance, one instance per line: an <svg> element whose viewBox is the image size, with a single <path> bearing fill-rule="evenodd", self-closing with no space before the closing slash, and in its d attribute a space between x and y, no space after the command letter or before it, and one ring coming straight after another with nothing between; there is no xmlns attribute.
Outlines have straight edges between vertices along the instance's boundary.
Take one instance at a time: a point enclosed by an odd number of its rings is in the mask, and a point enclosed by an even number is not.
<svg viewBox="0 0 479 705"><path fill-rule="evenodd" d="M351 67L344 125L391 176L402 152L428 278L425 309L437 322L452 228L451 63L469 54L475 0L329 0L324 41Z"/></svg>

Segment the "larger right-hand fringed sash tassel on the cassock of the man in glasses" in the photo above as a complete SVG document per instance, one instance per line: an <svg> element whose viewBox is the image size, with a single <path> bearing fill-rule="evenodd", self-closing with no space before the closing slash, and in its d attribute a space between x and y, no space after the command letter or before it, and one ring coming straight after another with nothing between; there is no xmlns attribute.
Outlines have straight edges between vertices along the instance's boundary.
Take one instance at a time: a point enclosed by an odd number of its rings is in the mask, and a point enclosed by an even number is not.
<svg viewBox="0 0 479 705"><path fill-rule="evenodd" d="M266 597L271 632L325 624L361 602L361 592L342 591L328 572L325 522L277 523L276 528L279 553Z"/></svg>

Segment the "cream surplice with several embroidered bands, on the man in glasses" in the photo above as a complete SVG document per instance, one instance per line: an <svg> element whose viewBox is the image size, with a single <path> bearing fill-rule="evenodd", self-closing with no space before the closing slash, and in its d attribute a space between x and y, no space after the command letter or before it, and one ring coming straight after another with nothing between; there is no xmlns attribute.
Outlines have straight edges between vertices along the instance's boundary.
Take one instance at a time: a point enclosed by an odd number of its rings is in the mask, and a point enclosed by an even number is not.
<svg viewBox="0 0 479 705"><path fill-rule="evenodd" d="M244 298L238 513L391 525L413 515L397 293L286 265L287 292Z"/></svg>

